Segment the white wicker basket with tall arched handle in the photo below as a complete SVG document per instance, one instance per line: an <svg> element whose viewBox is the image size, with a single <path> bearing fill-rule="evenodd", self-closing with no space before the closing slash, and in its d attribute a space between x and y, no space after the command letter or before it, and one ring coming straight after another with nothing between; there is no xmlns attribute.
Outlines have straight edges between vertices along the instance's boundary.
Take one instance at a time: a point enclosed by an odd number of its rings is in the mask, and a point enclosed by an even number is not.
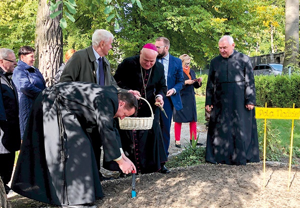
<svg viewBox="0 0 300 208"><path fill-rule="evenodd" d="M122 120L119 118L120 129L141 130L150 129L152 127L154 119L152 108L145 98L139 97L139 99L145 100L146 103L149 105L151 110L151 117L124 117Z"/></svg>

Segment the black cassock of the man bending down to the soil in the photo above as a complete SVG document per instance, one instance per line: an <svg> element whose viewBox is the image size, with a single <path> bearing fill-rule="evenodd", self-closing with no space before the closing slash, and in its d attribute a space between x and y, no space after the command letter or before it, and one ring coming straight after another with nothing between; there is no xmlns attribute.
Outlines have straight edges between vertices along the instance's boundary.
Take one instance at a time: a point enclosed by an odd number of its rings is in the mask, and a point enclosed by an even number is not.
<svg viewBox="0 0 300 208"><path fill-rule="evenodd" d="M12 189L57 205L89 203L102 197L85 129L98 126L105 159L118 158L120 140L113 121L117 109L114 86L62 82L44 89L34 100Z"/></svg>

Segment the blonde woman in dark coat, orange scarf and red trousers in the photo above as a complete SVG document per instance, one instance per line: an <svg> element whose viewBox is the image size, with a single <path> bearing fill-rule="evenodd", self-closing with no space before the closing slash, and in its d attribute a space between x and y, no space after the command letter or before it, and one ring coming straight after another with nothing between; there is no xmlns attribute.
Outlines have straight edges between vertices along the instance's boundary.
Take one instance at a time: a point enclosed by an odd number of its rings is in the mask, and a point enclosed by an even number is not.
<svg viewBox="0 0 300 208"><path fill-rule="evenodd" d="M202 78L196 79L195 72L190 69L190 57L187 54L179 56L182 61L184 87L180 90L180 96L182 100L182 109L173 110L174 134L175 134L175 146L180 148L180 133L181 124L189 123L190 143L192 135L194 139L197 138L197 110L194 88L199 88L202 85ZM202 145L197 143L197 145Z"/></svg>

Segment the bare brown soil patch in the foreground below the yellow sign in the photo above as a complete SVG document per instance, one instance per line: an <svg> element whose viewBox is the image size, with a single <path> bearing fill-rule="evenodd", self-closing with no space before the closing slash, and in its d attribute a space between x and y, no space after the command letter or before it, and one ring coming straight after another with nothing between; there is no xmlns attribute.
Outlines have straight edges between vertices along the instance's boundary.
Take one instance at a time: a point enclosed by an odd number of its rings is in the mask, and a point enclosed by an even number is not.
<svg viewBox="0 0 300 208"><path fill-rule="evenodd" d="M201 127L201 129L204 126ZM201 131L200 129L200 131ZM203 131L204 133L204 131ZM205 134L205 133L204 133ZM188 140L186 142L189 142ZM180 151L171 147L172 154ZM131 198L131 177L102 182L104 197L98 207L299 207L299 168L269 162L263 189L262 162L247 165L203 164L171 169L169 174L136 176L136 198ZM12 207L54 207L16 193L8 194Z"/></svg>

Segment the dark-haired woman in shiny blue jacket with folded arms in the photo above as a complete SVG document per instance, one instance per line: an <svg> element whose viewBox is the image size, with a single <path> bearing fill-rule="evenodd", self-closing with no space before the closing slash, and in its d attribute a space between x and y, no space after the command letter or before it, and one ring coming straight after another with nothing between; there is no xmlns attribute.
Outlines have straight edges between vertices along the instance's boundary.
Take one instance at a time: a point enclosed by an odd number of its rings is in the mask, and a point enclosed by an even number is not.
<svg viewBox="0 0 300 208"><path fill-rule="evenodd" d="M29 112L35 96L46 88L45 80L39 70L33 67L34 49L22 46L18 51L18 62L14 68L12 80L17 88L19 99L19 120L21 138L25 131Z"/></svg>

